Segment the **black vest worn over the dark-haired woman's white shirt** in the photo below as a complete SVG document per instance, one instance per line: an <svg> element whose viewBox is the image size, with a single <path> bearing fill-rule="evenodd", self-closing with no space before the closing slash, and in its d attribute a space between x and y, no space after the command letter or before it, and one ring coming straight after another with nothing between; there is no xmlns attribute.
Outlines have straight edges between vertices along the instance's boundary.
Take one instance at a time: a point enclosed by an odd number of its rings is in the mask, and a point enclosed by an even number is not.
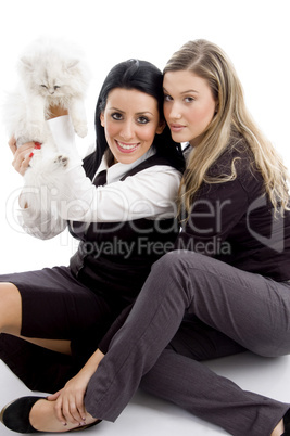
<svg viewBox="0 0 290 436"><path fill-rule="evenodd" d="M149 157L128 176L154 166L169 165L159 155ZM97 184L98 185L98 184ZM100 295L117 304L131 303L140 292L151 265L174 248L179 233L178 221L171 219L136 219L124 222L68 225L73 236L80 240L70 267L77 279Z"/></svg>

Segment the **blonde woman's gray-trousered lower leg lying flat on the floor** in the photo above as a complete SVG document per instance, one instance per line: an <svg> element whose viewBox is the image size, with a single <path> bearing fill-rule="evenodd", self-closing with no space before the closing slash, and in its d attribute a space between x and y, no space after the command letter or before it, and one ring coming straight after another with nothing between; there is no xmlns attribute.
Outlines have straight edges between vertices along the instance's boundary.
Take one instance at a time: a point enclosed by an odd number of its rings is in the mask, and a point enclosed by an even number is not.
<svg viewBox="0 0 290 436"><path fill-rule="evenodd" d="M289 405L242 390L204 363L171 349L161 354L141 380L141 387L235 436L270 436L290 408Z"/></svg>

